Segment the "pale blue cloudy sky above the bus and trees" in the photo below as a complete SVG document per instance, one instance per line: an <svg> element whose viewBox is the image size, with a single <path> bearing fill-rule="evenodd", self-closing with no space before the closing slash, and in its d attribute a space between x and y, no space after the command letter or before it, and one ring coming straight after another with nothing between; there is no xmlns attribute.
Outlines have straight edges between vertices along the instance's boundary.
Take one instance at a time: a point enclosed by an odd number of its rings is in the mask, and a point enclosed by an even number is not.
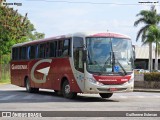
<svg viewBox="0 0 160 120"><path fill-rule="evenodd" d="M75 32L116 32L131 37L134 45L138 30L134 27L141 10L149 10L151 4L139 2L158 2L160 0L6 0L7 3L21 3L22 6L10 5L28 19L36 30L45 33L45 37L65 35Z"/></svg>

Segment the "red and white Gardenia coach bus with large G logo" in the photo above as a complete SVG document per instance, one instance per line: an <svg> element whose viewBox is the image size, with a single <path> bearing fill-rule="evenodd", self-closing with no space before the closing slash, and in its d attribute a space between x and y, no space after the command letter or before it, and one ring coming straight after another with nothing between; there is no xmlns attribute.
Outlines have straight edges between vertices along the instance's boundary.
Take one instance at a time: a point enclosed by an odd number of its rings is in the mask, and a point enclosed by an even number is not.
<svg viewBox="0 0 160 120"><path fill-rule="evenodd" d="M119 33L74 33L15 44L11 84L27 92L54 90L66 98L77 93L131 92L134 52L130 37Z"/></svg>

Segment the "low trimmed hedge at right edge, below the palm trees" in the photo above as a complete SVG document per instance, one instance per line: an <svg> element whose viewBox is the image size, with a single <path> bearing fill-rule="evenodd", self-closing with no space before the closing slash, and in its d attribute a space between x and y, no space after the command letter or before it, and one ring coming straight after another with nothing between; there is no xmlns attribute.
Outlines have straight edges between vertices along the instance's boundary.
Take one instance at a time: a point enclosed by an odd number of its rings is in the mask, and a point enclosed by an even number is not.
<svg viewBox="0 0 160 120"><path fill-rule="evenodd" d="M160 73L159 72L144 73L144 80L160 82Z"/></svg>

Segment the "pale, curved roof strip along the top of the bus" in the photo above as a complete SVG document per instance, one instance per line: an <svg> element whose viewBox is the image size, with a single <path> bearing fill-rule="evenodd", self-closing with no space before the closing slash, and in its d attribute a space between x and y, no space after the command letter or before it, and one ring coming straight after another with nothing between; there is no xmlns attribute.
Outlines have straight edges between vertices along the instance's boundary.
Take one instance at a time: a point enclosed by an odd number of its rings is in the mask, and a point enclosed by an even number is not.
<svg viewBox="0 0 160 120"><path fill-rule="evenodd" d="M57 39L65 39L65 38L71 38L73 36L78 36L78 37L114 37L114 38L124 38L124 39L131 39L127 35L119 34L119 33L113 33L113 32L77 32L73 34L67 34L67 35L61 35L61 36L56 36L56 37L49 37L49 38L44 38L44 39L39 39L39 40L34 40L34 41L29 41L29 42L24 42L24 43L18 43L13 45L13 47L20 47L20 46L27 46L31 44L40 44L46 41L52 41L52 40L57 40Z"/></svg>

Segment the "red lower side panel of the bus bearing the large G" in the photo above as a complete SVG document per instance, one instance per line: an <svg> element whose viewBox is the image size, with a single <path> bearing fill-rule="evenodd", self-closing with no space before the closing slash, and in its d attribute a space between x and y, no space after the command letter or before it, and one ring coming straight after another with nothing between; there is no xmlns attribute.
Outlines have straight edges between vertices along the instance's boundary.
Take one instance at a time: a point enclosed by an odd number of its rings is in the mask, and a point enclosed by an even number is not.
<svg viewBox="0 0 160 120"><path fill-rule="evenodd" d="M25 76L33 88L61 90L61 80L66 77L71 91L81 92L71 69L69 58L39 59L11 62L11 83L24 86Z"/></svg>

